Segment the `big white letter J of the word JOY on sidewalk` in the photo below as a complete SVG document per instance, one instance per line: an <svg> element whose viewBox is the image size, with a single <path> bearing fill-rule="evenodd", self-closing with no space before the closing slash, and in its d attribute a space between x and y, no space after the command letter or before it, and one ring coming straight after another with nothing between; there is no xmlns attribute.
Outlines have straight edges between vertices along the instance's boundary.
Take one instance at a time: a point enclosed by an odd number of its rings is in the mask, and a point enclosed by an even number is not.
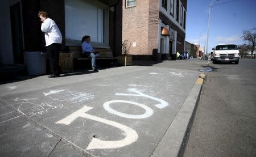
<svg viewBox="0 0 256 157"><path fill-rule="evenodd" d="M119 147L130 145L131 143L137 141L138 134L135 130L129 128L128 126L119 124L118 122L105 120L104 118L96 117L91 114L86 114L85 112L89 111L90 109L93 109L93 107L87 107L85 105L78 111L73 112L69 116L55 123L69 125L71 124L72 121L76 120L77 117L83 117L83 118L88 118L90 120L102 122L107 125L114 126L115 128L118 128L124 131L126 134L126 137L119 141L102 141L101 139L93 138L92 141L90 141L88 147L86 147L86 150L119 148Z"/></svg>

